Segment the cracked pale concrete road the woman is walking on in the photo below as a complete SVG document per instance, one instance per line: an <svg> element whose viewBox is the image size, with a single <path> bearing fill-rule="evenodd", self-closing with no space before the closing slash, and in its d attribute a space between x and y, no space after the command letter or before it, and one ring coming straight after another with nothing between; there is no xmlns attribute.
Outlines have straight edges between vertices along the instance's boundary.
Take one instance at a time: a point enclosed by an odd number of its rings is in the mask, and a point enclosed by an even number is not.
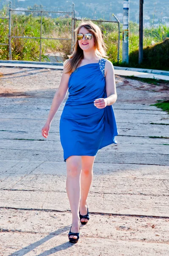
<svg viewBox="0 0 169 256"><path fill-rule="evenodd" d="M41 136L62 70L0 72L0 256L168 256L169 115L150 106L166 99L166 87L116 76L118 145L98 151L90 220L70 244L59 138L68 95Z"/></svg>

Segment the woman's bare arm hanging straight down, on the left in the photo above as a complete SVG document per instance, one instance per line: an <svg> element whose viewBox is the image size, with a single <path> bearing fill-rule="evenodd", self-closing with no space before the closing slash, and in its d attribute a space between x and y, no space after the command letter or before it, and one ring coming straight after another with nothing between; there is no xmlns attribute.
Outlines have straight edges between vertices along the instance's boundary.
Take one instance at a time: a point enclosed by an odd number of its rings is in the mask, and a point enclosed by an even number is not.
<svg viewBox="0 0 169 256"><path fill-rule="evenodd" d="M45 123L45 125L42 128L42 136L47 138L48 137L48 132L50 129L50 125L52 122L52 119L54 118L58 108L60 107L62 101L65 99L66 93L68 91L68 81L70 77L70 73L65 73L66 68L63 68L63 73L62 73L62 78L59 84L59 88L56 91L54 95L54 99L51 104L51 109L48 114L48 119Z"/></svg>

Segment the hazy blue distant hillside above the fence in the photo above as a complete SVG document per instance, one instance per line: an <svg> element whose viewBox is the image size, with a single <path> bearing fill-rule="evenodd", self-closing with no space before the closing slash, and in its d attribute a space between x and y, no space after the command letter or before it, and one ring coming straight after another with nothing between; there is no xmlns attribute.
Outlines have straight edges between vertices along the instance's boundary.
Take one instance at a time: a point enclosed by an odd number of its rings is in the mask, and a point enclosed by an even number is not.
<svg viewBox="0 0 169 256"><path fill-rule="evenodd" d="M12 0L13 8L27 8L33 7L34 4L42 5L45 10L57 11L70 11L72 2L75 4L76 17L88 17L88 18L104 18L110 19L112 13L117 15L121 19L123 13L123 0ZM4 4L8 4L9 1L1 0L0 9ZM59 8L58 8L59 6ZM64 7L63 7L64 6ZM154 15L154 16L153 16ZM139 0L130 0L130 20L138 22L139 17ZM160 22L163 17L169 17L169 0L144 0L144 19L157 19L156 23ZM122 21L122 20L121 20ZM169 22L169 18L168 18Z"/></svg>

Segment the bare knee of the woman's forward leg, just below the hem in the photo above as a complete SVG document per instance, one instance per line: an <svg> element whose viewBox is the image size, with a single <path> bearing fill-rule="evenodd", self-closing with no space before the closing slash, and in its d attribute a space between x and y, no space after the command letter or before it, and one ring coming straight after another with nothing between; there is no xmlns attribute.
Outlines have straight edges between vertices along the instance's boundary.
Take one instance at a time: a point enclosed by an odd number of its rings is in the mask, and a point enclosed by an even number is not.
<svg viewBox="0 0 169 256"><path fill-rule="evenodd" d="M68 176L76 177L80 175L82 169L82 161L80 156L68 157L66 163Z"/></svg>

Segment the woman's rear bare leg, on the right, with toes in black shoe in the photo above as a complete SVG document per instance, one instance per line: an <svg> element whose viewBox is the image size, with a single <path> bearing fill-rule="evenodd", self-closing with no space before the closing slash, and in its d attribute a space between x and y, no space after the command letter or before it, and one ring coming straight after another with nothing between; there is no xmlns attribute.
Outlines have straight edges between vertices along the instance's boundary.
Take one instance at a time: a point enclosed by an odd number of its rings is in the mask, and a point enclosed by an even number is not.
<svg viewBox="0 0 169 256"><path fill-rule="evenodd" d="M81 198L80 198L80 214L87 214L87 195L89 193L90 185L93 180L93 163L95 157L82 156L82 172L81 172ZM81 219L82 222L87 222L86 218Z"/></svg>

